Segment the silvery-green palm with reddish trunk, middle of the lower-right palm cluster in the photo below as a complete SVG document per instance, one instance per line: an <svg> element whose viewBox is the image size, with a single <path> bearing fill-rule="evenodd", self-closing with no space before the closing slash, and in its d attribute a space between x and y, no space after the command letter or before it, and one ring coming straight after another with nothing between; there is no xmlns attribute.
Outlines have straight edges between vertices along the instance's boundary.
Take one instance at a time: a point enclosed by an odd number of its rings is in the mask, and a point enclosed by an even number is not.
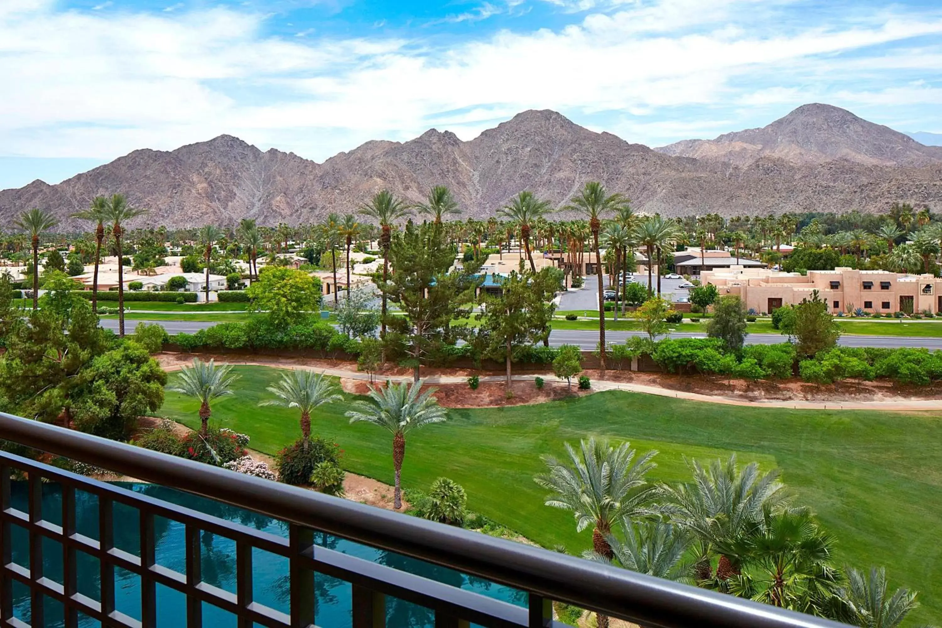
<svg viewBox="0 0 942 628"><path fill-rule="evenodd" d="M791 495L778 481L778 470L760 474L755 462L739 469L736 456L723 462L713 460L708 468L689 461L691 484L660 487L668 505L665 511L672 521L686 528L700 540L703 555L698 556L697 580L711 576L709 553L730 539L739 539L762 512L780 512L788 508ZM716 578L723 581L739 573L736 556L721 552Z"/></svg>

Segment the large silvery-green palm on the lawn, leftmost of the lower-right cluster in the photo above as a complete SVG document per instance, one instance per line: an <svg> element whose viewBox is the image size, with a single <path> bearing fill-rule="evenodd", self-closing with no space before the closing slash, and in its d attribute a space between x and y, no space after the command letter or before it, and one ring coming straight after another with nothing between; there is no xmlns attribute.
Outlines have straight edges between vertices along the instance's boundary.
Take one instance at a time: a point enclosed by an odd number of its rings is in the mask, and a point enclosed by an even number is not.
<svg viewBox="0 0 942 628"><path fill-rule="evenodd" d="M612 526L654 512L657 490L645 475L657 466L651 459L658 452L637 456L629 443L612 447L594 438L580 441L578 451L569 443L565 447L568 463L544 456L548 471L534 479L551 491L546 506L573 511L578 532L593 526L593 552L611 560L615 555L607 537ZM607 628L609 618L600 615L597 622Z"/></svg>

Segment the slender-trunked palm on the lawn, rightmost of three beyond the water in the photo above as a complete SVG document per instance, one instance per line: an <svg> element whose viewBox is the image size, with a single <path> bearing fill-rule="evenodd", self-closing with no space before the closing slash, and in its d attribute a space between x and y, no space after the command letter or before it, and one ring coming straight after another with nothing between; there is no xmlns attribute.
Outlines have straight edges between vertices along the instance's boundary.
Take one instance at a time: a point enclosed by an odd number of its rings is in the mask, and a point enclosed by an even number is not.
<svg viewBox="0 0 942 628"><path fill-rule="evenodd" d="M370 386L368 400L357 401L353 409L347 412L350 423L365 421L382 427L393 435L393 469L396 472L396 486L393 491L393 507L402 507L402 490L399 479L402 473L402 459L406 455L406 434L413 429L432 423L441 423L448 416L448 411L438 405L430 388L422 393L422 381L412 384L386 382L385 387Z"/></svg>

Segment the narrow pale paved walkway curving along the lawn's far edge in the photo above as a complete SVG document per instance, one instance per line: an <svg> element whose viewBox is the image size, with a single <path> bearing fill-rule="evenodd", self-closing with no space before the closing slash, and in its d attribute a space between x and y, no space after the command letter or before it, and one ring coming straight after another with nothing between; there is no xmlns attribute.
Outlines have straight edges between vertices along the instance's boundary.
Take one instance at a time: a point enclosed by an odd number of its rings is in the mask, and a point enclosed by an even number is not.
<svg viewBox="0 0 942 628"><path fill-rule="evenodd" d="M158 358L159 360L159 358ZM174 361L175 362L175 361ZM286 364L273 360L227 360L227 363L245 366L271 366L273 368L284 369L305 369L317 371L335 378L356 379L359 381L369 381L368 373L357 371L348 371L342 368L322 368L317 366L306 366L303 364ZM162 364L163 365L163 364ZM179 371L182 367L180 363L171 363L164 365L165 371ZM536 375L516 375L513 381L532 381ZM540 375L546 383L560 386L567 385L565 379L557 378L552 374ZM375 376L377 381L389 379L391 381L402 382L412 381L411 375L388 375ZM505 381L503 375L485 375L479 378L480 381ZM431 376L422 378L426 384L461 384L466 383L467 378L458 376ZM942 411L942 399L901 399L899 401L782 401L780 399L770 399L768 401L747 401L735 397L724 397L716 395L703 395L700 393L689 393L687 391L673 391L658 386L647 386L644 384L634 384L624 381L605 381L594 379L592 382L594 391L625 391L628 393L642 393L644 395L658 395L674 397L675 399L688 399L690 401L701 401L704 403L719 403L727 406L746 406L752 408L786 408L790 410L870 410L870 411Z"/></svg>

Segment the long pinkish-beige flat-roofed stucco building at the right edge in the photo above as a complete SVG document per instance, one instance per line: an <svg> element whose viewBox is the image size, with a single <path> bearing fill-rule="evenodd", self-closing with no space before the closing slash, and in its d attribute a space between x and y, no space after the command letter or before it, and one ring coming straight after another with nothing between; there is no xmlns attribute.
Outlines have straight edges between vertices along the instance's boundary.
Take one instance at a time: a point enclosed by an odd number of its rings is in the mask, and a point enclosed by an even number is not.
<svg viewBox="0 0 942 628"><path fill-rule="evenodd" d="M700 278L715 285L721 295L737 295L745 306L770 313L783 305L796 305L814 290L833 313L862 309L868 314L942 312L942 278L906 275L885 270L809 270L807 275L767 268L732 266L708 270Z"/></svg>

